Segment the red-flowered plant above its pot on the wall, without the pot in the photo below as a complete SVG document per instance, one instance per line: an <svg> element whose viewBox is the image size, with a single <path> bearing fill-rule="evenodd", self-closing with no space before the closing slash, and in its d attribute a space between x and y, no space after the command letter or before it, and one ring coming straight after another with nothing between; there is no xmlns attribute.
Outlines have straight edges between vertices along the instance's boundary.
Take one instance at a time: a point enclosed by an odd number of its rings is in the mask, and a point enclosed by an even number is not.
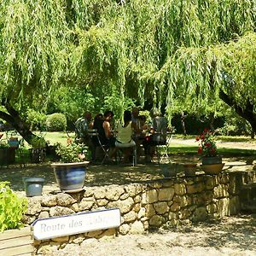
<svg viewBox="0 0 256 256"><path fill-rule="evenodd" d="M214 136L214 132L205 128L200 136L195 137L195 140L199 142L198 154L201 156L217 156L217 146L216 146L216 137Z"/></svg>

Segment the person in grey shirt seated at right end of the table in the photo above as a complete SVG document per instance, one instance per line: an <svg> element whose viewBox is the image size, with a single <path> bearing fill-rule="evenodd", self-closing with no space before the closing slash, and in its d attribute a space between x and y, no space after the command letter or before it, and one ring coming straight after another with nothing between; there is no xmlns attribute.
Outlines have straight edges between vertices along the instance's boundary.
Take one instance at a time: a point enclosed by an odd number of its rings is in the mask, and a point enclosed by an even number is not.
<svg viewBox="0 0 256 256"><path fill-rule="evenodd" d="M146 162L152 160L154 154L154 146L166 144L166 131L168 122L166 118L160 115L160 111L154 109L151 111L150 116L153 118L152 126L150 127L150 134L145 137L143 147L146 154Z"/></svg>

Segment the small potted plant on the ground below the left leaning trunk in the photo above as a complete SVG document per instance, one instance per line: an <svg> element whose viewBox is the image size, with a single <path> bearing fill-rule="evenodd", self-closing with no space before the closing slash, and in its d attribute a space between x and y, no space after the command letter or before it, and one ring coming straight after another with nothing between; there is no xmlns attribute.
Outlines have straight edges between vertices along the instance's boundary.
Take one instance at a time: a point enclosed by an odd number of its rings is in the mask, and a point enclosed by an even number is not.
<svg viewBox="0 0 256 256"><path fill-rule="evenodd" d="M31 141L31 160L32 163L40 163L45 158L46 142L44 137L32 137Z"/></svg>

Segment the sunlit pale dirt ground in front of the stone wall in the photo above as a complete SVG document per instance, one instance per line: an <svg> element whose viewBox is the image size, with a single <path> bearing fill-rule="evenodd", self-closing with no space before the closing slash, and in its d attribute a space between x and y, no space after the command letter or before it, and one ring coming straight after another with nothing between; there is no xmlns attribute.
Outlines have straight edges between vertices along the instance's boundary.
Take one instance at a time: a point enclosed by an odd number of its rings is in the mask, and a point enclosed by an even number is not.
<svg viewBox="0 0 256 256"><path fill-rule="evenodd" d="M204 224L159 230L148 235L89 239L52 255L216 256L256 255L256 216L222 218Z"/></svg>

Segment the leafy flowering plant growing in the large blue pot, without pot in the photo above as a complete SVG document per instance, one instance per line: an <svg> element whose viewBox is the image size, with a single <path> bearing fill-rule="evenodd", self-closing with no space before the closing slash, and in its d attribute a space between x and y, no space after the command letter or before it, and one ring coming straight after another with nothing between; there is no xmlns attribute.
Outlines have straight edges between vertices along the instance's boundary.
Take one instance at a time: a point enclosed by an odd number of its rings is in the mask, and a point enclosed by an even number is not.
<svg viewBox="0 0 256 256"><path fill-rule="evenodd" d="M74 143L70 138L67 139L67 146L61 143L56 144L56 154L60 156L63 163L74 163L85 160L88 147L84 144Z"/></svg>

